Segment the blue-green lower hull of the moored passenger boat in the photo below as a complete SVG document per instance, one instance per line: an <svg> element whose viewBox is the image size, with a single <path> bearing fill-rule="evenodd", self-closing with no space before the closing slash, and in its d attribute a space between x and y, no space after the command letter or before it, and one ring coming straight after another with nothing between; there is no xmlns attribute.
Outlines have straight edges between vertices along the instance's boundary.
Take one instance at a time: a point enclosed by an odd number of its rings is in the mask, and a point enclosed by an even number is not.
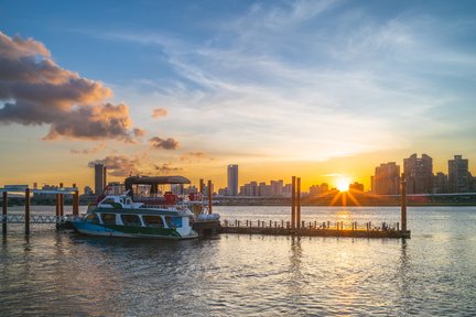
<svg viewBox="0 0 476 317"><path fill-rule="evenodd" d="M79 233L99 237L121 237L121 238L147 238L147 239L194 239L198 237L194 230L187 236L180 234L175 229L132 227L117 225L99 225L85 221L73 221L74 229Z"/></svg>

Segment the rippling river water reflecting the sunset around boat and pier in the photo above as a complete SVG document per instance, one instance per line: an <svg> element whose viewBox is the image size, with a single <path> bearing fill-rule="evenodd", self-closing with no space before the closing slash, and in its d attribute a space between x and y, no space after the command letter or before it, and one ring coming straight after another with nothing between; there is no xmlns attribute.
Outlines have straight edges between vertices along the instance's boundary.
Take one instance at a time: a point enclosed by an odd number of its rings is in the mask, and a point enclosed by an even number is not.
<svg viewBox="0 0 476 317"><path fill-rule="evenodd" d="M214 210L267 221L288 220L290 211ZM399 209L305 207L302 218L393 222ZM474 316L476 207L410 207L409 228L405 242L236 234L145 241L48 225L32 226L25 239L22 225L10 225L0 250L0 315Z"/></svg>

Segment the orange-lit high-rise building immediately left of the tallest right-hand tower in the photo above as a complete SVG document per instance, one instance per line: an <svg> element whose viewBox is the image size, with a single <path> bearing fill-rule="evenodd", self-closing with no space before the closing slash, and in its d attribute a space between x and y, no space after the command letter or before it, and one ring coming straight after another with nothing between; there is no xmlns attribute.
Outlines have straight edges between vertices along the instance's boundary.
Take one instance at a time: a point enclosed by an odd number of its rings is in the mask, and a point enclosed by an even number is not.
<svg viewBox="0 0 476 317"><path fill-rule="evenodd" d="M376 195L400 194L400 166L396 162L380 164L376 167L371 184Z"/></svg>

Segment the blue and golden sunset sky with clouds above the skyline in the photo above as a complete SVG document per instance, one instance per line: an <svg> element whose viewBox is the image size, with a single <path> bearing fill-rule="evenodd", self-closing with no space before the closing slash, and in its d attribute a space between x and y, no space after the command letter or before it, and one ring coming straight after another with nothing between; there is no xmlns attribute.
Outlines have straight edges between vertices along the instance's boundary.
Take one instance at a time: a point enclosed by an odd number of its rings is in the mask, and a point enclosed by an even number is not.
<svg viewBox="0 0 476 317"><path fill-rule="evenodd" d="M0 2L0 185L476 174L474 1Z"/></svg>

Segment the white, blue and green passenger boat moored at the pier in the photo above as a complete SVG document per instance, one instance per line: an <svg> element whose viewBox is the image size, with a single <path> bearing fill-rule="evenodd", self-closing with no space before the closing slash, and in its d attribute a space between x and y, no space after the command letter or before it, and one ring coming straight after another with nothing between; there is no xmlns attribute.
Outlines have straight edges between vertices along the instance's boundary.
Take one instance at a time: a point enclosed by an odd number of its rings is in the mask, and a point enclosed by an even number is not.
<svg viewBox="0 0 476 317"><path fill-rule="evenodd" d="M205 216L203 199L197 193L184 196L159 189L159 185L183 184L190 184L183 176L128 177L125 186L118 184L115 188L106 188L100 200L89 206L84 217L74 219L72 226L79 233L89 236L197 238L193 222L209 221L212 217L217 221L219 215ZM118 187L126 192L118 194Z"/></svg>

